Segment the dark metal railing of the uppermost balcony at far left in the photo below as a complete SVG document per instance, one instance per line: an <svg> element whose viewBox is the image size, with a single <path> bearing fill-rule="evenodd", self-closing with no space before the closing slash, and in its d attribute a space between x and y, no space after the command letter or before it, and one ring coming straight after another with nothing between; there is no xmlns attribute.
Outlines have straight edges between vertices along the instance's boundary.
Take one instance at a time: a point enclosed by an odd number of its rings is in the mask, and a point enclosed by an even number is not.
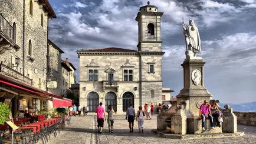
<svg viewBox="0 0 256 144"><path fill-rule="evenodd" d="M9 39L14 41L14 28L2 14L0 14L0 32L4 33Z"/></svg>

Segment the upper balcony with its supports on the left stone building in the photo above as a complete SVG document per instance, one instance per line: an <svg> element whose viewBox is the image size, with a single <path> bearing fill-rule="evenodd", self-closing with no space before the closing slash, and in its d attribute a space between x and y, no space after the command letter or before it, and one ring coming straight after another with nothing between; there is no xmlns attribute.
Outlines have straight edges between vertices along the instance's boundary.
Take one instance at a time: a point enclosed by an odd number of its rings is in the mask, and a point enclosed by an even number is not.
<svg viewBox="0 0 256 144"><path fill-rule="evenodd" d="M15 42L15 38L16 26L12 26L5 17L0 14L0 54L12 48L15 48L16 51L20 49Z"/></svg>

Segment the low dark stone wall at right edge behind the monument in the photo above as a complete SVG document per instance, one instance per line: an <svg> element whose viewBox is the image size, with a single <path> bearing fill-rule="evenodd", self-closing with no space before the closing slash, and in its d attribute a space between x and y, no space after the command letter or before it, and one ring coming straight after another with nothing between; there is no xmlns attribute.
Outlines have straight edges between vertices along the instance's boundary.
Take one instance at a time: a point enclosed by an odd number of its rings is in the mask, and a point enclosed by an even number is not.
<svg viewBox="0 0 256 144"><path fill-rule="evenodd" d="M237 124L256 126L256 112L234 112L237 116Z"/></svg>

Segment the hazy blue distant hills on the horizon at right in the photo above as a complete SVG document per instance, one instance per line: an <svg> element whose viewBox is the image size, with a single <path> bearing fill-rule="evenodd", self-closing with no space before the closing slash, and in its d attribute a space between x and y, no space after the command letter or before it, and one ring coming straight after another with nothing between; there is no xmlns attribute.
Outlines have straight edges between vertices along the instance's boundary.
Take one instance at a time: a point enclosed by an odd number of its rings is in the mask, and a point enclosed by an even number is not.
<svg viewBox="0 0 256 144"><path fill-rule="evenodd" d="M241 112L256 112L256 102L248 102L248 103L219 103L219 106L224 109L224 105L229 105L234 111Z"/></svg>

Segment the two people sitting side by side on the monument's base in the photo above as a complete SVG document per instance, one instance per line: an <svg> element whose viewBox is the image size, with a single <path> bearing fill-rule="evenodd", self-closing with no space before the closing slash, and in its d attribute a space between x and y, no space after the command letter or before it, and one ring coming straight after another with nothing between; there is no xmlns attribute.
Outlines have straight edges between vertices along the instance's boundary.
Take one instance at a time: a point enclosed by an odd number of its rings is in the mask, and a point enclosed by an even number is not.
<svg viewBox="0 0 256 144"><path fill-rule="evenodd" d="M212 129L214 128L214 118L216 118L216 126L221 127L220 123L222 122L222 112L219 110L216 102L212 102L211 105L208 104L208 101L204 101L204 103L200 106L199 110L199 119L202 119L202 130L205 130L205 118L208 115L208 119L210 120L210 126Z"/></svg>

